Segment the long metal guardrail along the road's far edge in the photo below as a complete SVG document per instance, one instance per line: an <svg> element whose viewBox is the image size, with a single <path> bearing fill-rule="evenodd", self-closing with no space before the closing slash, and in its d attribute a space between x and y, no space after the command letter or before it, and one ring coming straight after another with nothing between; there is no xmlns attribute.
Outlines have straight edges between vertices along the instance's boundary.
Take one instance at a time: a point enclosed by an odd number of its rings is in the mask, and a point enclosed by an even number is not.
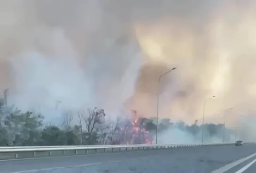
<svg viewBox="0 0 256 173"><path fill-rule="evenodd" d="M234 144L234 143L0 147L0 159L70 156L70 155L85 155L85 154L95 154L95 153L104 153L104 152L156 150L156 149L170 149L170 148L180 148L180 147L198 147L198 146L214 146L214 145L229 145L229 144Z"/></svg>

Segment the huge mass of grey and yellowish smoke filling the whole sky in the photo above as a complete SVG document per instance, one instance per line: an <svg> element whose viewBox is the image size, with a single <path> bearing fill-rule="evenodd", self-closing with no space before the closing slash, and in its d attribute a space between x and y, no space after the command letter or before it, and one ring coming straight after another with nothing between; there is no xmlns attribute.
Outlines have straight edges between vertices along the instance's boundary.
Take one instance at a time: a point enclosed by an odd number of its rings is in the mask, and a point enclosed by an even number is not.
<svg viewBox="0 0 256 173"><path fill-rule="evenodd" d="M0 0L0 89L21 109L123 106L227 124L254 114L252 0ZM49 113L50 114L50 113ZM54 113L52 113L54 115ZM214 116L211 116L214 115ZM233 121L231 121L233 120Z"/></svg>

